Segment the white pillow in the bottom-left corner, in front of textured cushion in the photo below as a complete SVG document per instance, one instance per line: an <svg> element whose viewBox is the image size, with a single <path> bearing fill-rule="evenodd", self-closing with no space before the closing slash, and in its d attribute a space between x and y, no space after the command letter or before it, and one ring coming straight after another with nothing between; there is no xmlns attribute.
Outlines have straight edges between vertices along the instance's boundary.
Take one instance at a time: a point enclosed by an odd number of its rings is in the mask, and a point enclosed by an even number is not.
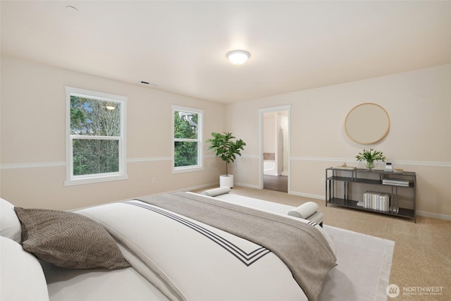
<svg viewBox="0 0 451 301"><path fill-rule="evenodd" d="M49 301L41 264L17 242L0 237L0 300Z"/></svg>

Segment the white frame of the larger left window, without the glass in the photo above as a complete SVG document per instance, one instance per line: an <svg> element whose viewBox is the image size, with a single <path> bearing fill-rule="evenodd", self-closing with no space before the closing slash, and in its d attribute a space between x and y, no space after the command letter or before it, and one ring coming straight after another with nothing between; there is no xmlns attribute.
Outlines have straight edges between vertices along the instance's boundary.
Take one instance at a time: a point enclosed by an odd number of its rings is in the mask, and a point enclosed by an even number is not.
<svg viewBox="0 0 451 301"><path fill-rule="evenodd" d="M125 116L126 104L128 97L108 94L104 92L90 91L79 89L75 87L65 86L66 91L66 181L65 186L82 185L91 183L101 183L113 180L126 180L127 164L126 164L126 145L125 145ZM115 102L121 106L121 136L120 137L105 137L105 136L85 136L85 135L70 135L70 97L84 97L89 99L97 99L104 102ZM76 137L75 137L76 136ZM114 173L97 173L89 175L73 175L73 139L101 139L101 140L118 140L119 142L119 171Z"/></svg>

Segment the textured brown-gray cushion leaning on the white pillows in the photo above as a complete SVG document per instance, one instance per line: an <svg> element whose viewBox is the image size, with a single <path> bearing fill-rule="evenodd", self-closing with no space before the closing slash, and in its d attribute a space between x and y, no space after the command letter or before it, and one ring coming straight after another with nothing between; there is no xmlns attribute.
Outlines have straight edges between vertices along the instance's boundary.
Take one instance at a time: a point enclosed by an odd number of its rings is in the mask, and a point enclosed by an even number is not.
<svg viewBox="0 0 451 301"><path fill-rule="evenodd" d="M44 262L69 269L130 266L111 235L81 214L14 208L22 223L23 249Z"/></svg>

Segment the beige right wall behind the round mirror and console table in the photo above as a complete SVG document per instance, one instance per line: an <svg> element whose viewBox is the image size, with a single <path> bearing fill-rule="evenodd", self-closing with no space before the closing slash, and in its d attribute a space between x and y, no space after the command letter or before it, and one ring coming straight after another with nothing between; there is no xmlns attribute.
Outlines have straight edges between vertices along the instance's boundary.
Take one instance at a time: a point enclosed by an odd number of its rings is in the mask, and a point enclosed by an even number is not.
<svg viewBox="0 0 451 301"><path fill-rule="evenodd" d="M390 132L374 145L353 142L343 127L347 112L364 102L390 116ZM290 193L324 199L324 169L344 161L364 167L354 156L375 147L395 168L417 173L419 214L451 219L451 65L228 106L228 130L247 142L235 166L241 185L260 185L258 110L283 105L291 105Z"/></svg>

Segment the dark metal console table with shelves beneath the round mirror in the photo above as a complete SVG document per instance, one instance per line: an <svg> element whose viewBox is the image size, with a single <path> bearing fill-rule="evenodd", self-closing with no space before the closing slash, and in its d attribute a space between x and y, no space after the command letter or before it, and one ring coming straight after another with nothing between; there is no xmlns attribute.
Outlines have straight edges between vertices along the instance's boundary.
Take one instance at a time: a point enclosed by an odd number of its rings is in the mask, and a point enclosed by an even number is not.
<svg viewBox="0 0 451 301"><path fill-rule="evenodd" d="M402 184L383 183L383 180L400 180ZM407 186L407 181L409 185ZM354 195L354 199L350 198L350 192L353 188L359 187L371 189L375 195L384 192L390 195L390 205L385 210L376 210L371 207L364 207L364 193ZM407 203L411 208L404 208L399 204L400 191L407 195ZM378 214L388 214L392 216L400 216L413 219L416 222L416 173L404 171L403 173L386 172L383 170L366 170L357 168L354 170L340 168L326 168L326 206L333 204L335 206L348 207L364 211L376 212ZM359 202L360 201L360 202ZM360 204L359 204L360 203Z"/></svg>

